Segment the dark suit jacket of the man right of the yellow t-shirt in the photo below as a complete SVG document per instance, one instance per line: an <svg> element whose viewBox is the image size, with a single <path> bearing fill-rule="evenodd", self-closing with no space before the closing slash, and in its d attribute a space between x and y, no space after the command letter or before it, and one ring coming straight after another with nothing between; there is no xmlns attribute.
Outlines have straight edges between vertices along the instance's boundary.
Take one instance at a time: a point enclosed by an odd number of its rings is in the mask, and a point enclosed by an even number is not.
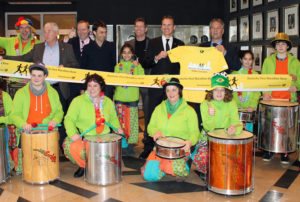
<svg viewBox="0 0 300 202"><path fill-rule="evenodd" d="M200 47L210 47L211 42L205 42L200 44ZM230 73L231 71L238 71L241 68L241 61L238 56L238 49L235 46L232 46L229 43L226 43L222 41L222 45L226 49L226 55L225 60L227 62L229 71L226 71L227 73Z"/></svg>

